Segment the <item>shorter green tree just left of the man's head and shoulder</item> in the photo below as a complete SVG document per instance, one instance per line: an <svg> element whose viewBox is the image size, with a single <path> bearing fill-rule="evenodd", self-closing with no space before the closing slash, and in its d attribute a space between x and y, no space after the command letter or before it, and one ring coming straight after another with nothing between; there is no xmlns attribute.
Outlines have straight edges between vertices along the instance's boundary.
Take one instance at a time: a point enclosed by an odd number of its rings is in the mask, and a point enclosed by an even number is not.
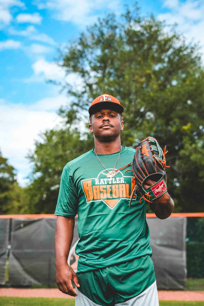
<svg viewBox="0 0 204 306"><path fill-rule="evenodd" d="M41 136L28 155L34 166L27 187L30 214L54 213L63 167L93 147L93 140L81 140L76 129L51 130Z"/></svg>

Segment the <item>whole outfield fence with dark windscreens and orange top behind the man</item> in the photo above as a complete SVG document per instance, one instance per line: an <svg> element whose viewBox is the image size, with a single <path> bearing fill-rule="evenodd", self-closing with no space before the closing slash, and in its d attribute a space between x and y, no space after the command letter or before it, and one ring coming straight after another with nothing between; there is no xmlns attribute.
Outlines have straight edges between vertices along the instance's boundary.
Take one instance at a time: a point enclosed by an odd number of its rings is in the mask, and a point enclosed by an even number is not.
<svg viewBox="0 0 204 306"><path fill-rule="evenodd" d="M186 217L187 233L185 230ZM159 220L153 214L147 214L158 289L204 290L203 217L204 213L186 213L172 214L171 218ZM9 226L10 222L11 226ZM5 282L7 246L11 236L9 283L6 284L11 286L56 286L55 224L54 215L0 216L1 284ZM75 246L79 238L77 225L78 218L76 217L74 238L69 254L69 264L75 270L78 260ZM9 236L10 229L11 235Z"/></svg>

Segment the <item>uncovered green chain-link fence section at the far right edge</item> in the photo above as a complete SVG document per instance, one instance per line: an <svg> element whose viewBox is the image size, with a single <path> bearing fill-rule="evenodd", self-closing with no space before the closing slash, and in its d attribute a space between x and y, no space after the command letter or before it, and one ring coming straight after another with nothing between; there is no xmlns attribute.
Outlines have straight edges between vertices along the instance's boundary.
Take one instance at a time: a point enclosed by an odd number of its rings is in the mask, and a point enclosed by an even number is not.
<svg viewBox="0 0 204 306"><path fill-rule="evenodd" d="M187 290L204 290L204 217L187 218Z"/></svg>

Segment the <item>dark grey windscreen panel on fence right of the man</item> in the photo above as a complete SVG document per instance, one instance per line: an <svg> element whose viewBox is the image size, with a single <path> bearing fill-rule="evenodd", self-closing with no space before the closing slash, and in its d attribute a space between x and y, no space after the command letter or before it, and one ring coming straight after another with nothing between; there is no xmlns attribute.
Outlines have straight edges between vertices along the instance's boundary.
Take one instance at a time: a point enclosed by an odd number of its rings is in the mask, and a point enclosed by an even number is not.
<svg viewBox="0 0 204 306"><path fill-rule="evenodd" d="M184 290L186 218L147 218L152 260L159 290Z"/></svg>

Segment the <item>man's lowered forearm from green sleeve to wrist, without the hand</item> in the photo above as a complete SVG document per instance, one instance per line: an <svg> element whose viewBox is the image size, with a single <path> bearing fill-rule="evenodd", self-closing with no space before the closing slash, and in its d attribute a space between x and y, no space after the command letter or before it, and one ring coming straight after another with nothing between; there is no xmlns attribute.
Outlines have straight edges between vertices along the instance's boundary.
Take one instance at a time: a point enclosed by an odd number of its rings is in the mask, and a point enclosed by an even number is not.
<svg viewBox="0 0 204 306"><path fill-rule="evenodd" d="M54 237L56 267L67 264L73 239L74 223L74 218L57 216Z"/></svg>

